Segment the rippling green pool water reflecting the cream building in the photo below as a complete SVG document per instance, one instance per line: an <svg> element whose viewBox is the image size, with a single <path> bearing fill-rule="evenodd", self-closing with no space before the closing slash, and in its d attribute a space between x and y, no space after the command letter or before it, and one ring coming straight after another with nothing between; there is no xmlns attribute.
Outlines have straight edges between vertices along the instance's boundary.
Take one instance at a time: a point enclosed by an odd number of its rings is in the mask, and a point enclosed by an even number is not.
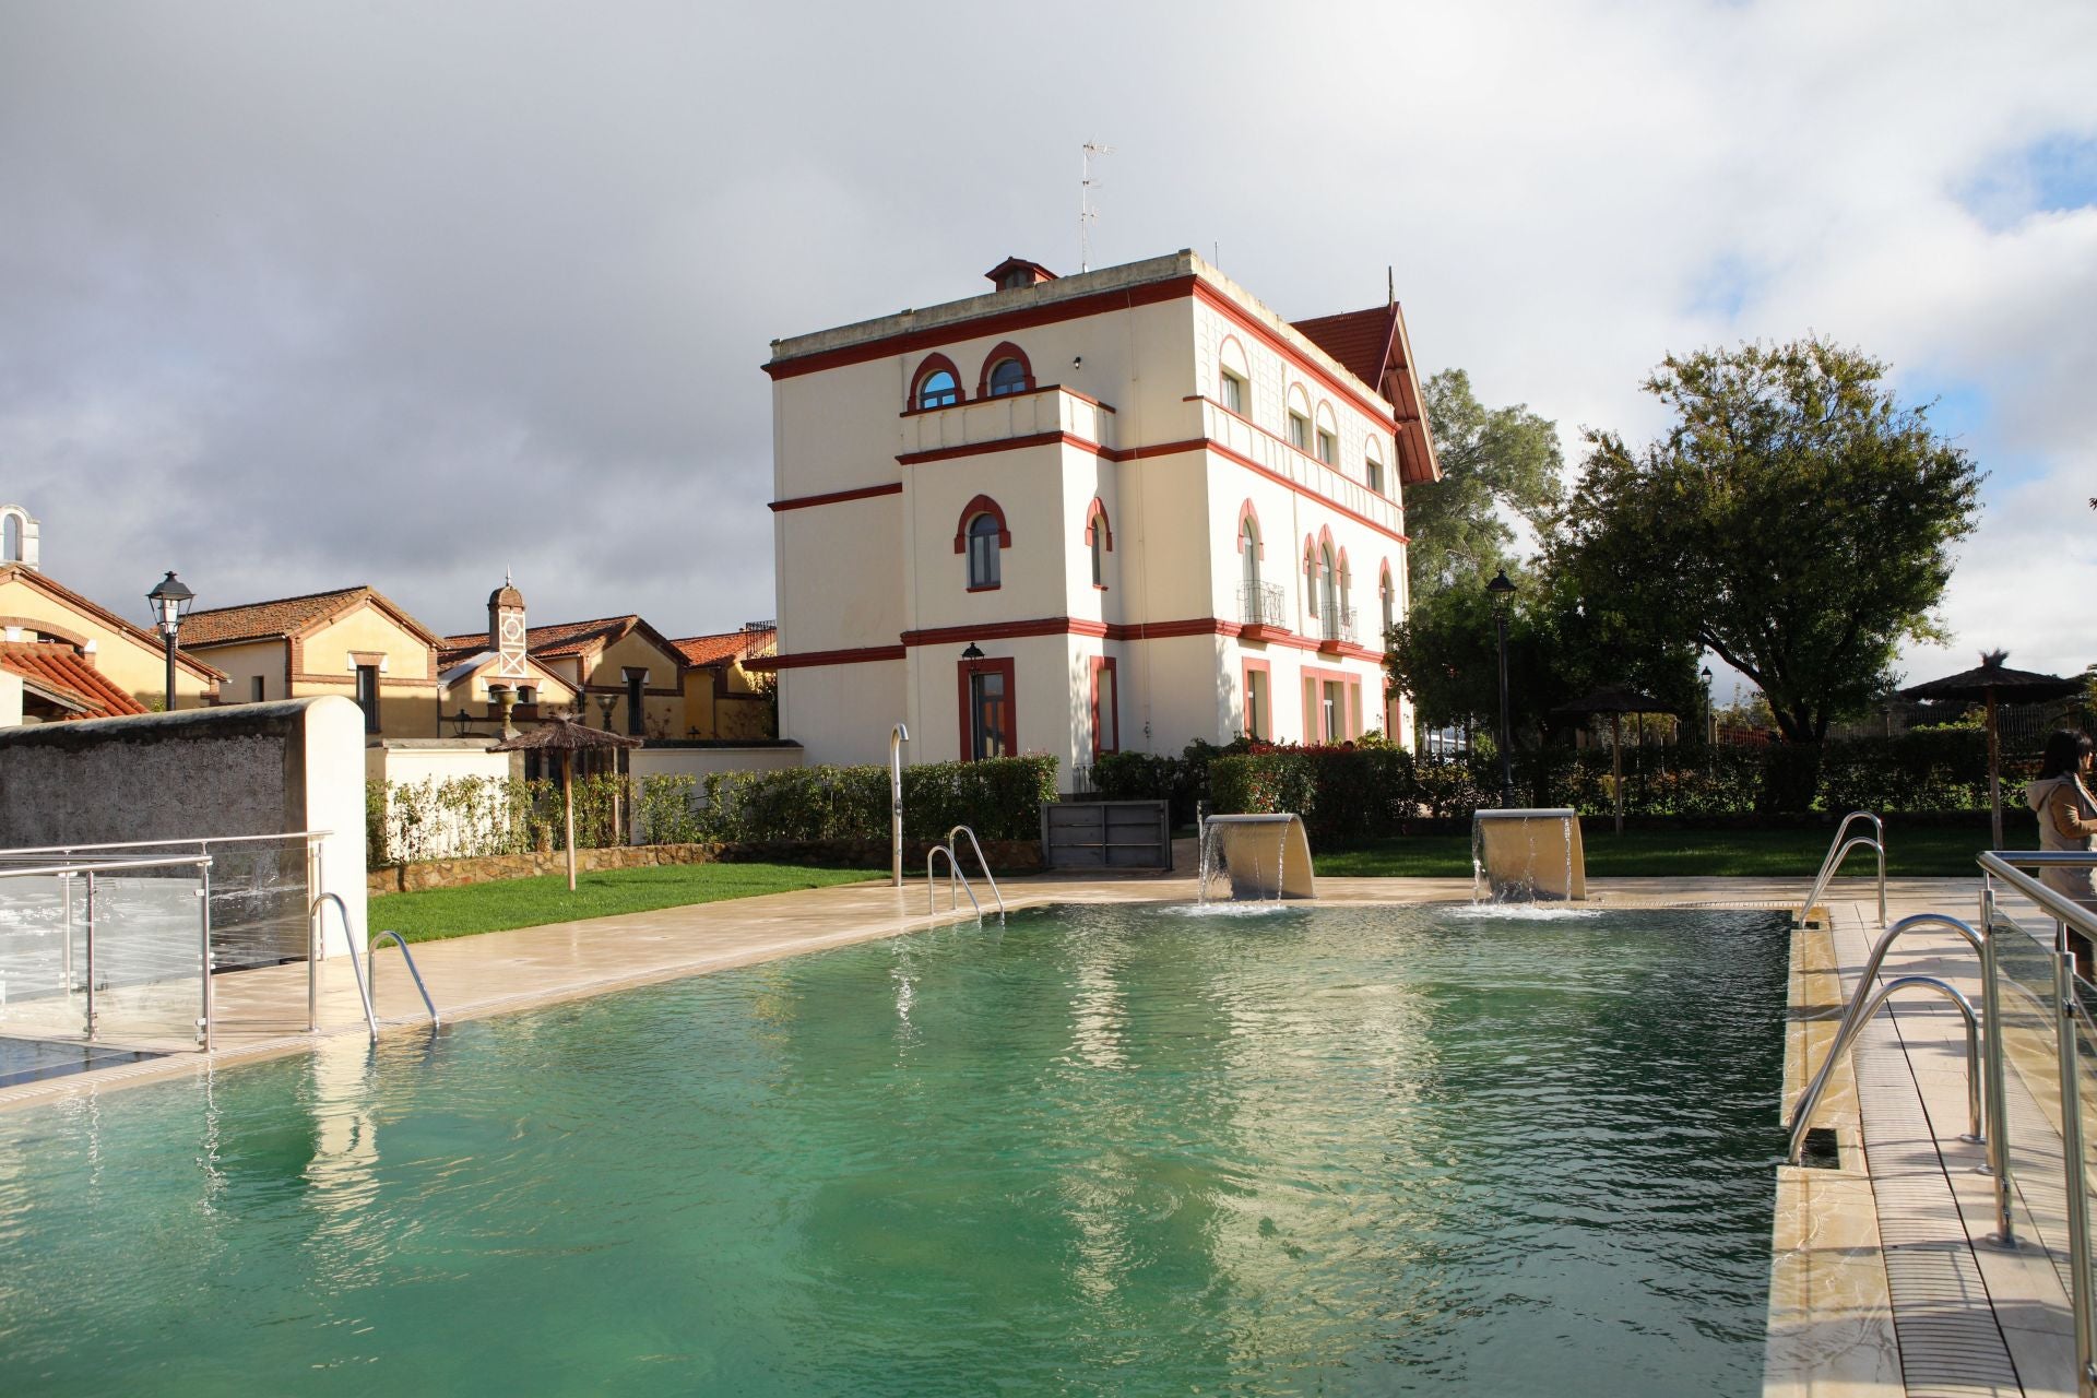
<svg viewBox="0 0 2097 1398"><path fill-rule="evenodd" d="M1782 918L1019 914L0 1115L4 1394L1755 1394Z"/></svg>

